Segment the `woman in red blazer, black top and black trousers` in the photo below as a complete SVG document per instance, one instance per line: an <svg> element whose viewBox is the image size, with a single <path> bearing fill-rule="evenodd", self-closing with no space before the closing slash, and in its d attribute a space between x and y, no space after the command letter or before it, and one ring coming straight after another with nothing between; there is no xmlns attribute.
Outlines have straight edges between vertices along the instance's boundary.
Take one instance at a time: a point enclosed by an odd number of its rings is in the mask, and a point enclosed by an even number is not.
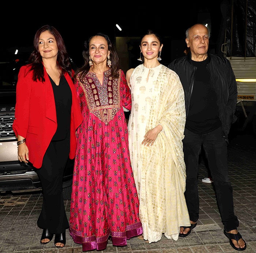
<svg viewBox="0 0 256 253"><path fill-rule="evenodd" d="M13 129L19 161L30 162L42 184L37 221L43 229L41 243L50 242L55 234L56 247L66 242L63 172L68 157L75 156L75 132L82 122L73 74L60 33L48 25L39 28L29 64L19 71Z"/></svg>

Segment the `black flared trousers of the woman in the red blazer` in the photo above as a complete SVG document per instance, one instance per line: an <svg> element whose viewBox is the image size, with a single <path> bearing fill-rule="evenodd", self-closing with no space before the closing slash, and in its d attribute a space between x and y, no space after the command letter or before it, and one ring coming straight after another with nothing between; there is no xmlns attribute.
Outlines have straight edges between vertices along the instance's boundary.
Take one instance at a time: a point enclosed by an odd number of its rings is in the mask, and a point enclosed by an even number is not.
<svg viewBox="0 0 256 253"><path fill-rule="evenodd" d="M41 180L43 203L37 220L41 229L49 229L52 234L64 233L69 227L65 212L62 180L67 164L70 140L51 141L46 150L42 167L35 169Z"/></svg>

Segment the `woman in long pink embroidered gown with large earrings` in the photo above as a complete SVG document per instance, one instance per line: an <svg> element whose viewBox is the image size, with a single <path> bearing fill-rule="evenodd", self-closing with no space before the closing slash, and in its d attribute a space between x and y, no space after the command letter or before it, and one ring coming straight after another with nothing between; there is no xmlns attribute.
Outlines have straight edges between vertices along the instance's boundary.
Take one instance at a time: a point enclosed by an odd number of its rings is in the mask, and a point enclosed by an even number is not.
<svg viewBox="0 0 256 253"><path fill-rule="evenodd" d="M124 108L131 109L131 93L109 37L96 34L84 46L84 65L76 71L83 122L77 131L69 231L87 251L104 250L109 236L113 245L127 245L143 231L124 115Z"/></svg>

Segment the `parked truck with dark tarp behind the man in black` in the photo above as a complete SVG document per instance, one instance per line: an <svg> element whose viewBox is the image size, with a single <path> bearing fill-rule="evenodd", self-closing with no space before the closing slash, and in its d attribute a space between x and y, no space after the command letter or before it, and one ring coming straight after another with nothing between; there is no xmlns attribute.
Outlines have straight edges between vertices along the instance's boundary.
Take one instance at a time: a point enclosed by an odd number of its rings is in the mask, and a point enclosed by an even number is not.
<svg viewBox="0 0 256 253"><path fill-rule="evenodd" d="M225 0L221 12L220 51L237 81L237 130L252 127L256 135L256 1Z"/></svg>

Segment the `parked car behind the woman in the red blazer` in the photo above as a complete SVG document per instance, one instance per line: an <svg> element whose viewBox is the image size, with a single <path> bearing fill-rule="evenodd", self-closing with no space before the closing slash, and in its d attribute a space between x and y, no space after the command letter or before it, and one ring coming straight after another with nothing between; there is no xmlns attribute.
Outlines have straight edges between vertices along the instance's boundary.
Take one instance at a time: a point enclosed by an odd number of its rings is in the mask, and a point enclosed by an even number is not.
<svg viewBox="0 0 256 253"><path fill-rule="evenodd" d="M15 48L14 48L15 50ZM15 50L16 51L16 50ZM41 182L34 168L18 160L17 138L12 130L15 114L16 83L29 52L1 54L0 59L0 192L40 191ZM38 112L39 113L39 112ZM63 196L70 198L74 160L68 160L63 178Z"/></svg>

